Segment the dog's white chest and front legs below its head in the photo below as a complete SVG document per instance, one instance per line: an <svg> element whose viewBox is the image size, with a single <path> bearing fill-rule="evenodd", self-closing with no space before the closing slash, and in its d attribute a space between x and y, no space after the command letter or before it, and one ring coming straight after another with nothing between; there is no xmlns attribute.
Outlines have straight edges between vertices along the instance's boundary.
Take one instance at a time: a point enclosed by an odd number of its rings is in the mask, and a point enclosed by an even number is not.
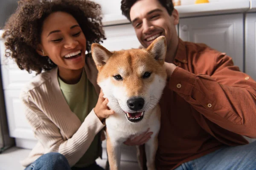
<svg viewBox="0 0 256 170"><path fill-rule="evenodd" d="M123 113L124 114L124 113ZM157 105L151 111L144 113L147 118L144 121L131 123L124 115L111 115L106 119L107 126L107 150L109 156L109 163L111 170L120 170L121 149L120 145L125 142L132 135L139 135L144 133L148 128L153 132L151 138L145 143L145 152L147 159L147 169L155 170L154 159L158 147L157 136L160 130L160 108ZM140 154L137 146L137 159ZM140 162L139 162L140 164ZM142 168L142 165L140 164Z"/></svg>

